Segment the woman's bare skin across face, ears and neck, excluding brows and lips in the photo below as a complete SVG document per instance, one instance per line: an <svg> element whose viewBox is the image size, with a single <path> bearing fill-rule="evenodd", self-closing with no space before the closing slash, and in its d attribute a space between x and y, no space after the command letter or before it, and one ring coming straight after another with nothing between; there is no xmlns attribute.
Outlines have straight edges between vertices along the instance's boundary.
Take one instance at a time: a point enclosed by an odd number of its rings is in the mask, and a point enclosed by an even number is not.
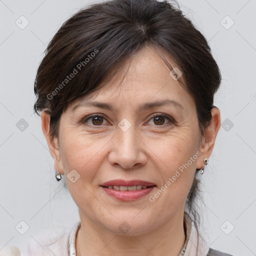
<svg viewBox="0 0 256 256"><path fill-rule="evenodd" d="M167 98L183 108L162 105L137 109L141 103ZM80 106L71 111L82 100L110 103L114 110ZM94 113L104 116L82 122ZM175 122L152 117L161 117L161 113ZM211 113L211 123L201 136L194 100L170 77L166 64L148 46L137 52L107 85L70 104L61 115L58 138L50 137L49 116L41 112L42 130L55 170L66 176L75 169L80 175L74 183L66 178L81 220L77 256L163 256L180 252L185 240L185 199L196 168L204 166L203 159L211 154L220 127L219 109L214 107ZM131 124L126 131L118 126L123 118ZM200 156L150 202L149 196L197 151ZM135 201L119 201L99 186L112 179L146 180L157 187ZM130 226L125 234L118 228L123 221Z"/></svg>

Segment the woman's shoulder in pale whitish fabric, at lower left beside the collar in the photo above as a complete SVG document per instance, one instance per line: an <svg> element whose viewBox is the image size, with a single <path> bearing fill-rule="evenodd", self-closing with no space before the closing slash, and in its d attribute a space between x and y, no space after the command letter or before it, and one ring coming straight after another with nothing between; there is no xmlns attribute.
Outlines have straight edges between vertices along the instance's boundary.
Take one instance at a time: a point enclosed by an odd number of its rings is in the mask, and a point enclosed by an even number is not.
<svg viewBox="0 0 256 256"><path fill-rule="evenodd" d="M68 236L64 228L43 229L31 235L21 248L22 256L61 255L68 256Z"/></svg>

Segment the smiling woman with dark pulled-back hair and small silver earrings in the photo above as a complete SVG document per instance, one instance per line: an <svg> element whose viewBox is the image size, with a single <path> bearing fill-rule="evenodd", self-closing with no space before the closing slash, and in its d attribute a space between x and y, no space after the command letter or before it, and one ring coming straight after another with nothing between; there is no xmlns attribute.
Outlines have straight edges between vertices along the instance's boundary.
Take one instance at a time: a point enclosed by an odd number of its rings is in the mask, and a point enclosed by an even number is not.
<svg viewBox="0 0 256 256"><path fill-rule="evenodd" d="M220 127L220 72L170 3L81 9L49 43L36 113L80 221L27 255L230 255L199 233L199 177Z"/></svg>

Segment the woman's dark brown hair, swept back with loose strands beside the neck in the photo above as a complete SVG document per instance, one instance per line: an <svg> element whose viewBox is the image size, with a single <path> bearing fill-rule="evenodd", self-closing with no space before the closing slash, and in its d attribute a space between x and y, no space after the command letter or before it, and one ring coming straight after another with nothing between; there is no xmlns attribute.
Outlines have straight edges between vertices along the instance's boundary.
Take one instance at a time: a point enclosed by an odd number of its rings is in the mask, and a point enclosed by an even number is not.
<svg viewBox="0 0 256 256"><path fill-rule="evenodd" d="M170 70L172 61L182 71L178 81L194 99L203 135L211 121L211 108L215 107L213 96L220 85L220 71L201 32L178 5L166 0L91 4L61 25L45 49L34 82L34 111L49 114L50 135L58 137L61 114L73 100L100 89L96 87L145 46L163 53L161 57ZM195 177L186 207L196 227L198 192L199 180Z"/></svg>

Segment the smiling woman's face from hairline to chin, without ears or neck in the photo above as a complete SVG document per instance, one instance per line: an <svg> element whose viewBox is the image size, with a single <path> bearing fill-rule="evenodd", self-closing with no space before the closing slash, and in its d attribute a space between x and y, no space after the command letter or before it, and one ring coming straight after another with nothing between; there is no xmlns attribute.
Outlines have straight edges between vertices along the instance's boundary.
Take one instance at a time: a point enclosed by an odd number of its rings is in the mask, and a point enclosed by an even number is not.
<svg viewBox="0 0 256 256"><path fill-rule="evenodd" d="M156 101L162 104L149 104ZM195 169L209 156L201 141L195 102L146 47L62 114L54 167L65 174L81 221L138 235L183 214Z"/></svg>

